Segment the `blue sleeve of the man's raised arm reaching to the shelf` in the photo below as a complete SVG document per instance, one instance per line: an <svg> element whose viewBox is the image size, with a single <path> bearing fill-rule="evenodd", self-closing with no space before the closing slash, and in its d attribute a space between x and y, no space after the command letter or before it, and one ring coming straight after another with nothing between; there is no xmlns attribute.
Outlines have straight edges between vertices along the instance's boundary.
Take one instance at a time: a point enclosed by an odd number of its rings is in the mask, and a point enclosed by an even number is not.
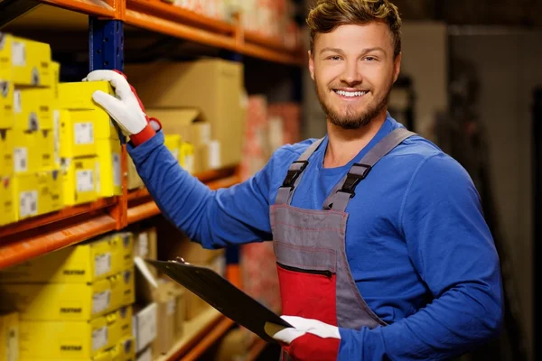
<svg viewBox="0 0 542 361"><path fill-rule="evenodd" d="M164 146L164 134L127 145L135 168L164 216L205 248L272 239L269 224L271 160L251 179L210 190L184 171Z"/></svg>

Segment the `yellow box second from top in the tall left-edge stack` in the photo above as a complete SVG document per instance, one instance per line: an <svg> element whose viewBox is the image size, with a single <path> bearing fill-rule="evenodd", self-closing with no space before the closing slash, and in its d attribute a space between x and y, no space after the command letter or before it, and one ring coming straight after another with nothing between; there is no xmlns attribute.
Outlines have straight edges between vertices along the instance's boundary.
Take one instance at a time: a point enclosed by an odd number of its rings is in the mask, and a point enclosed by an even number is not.
<svg viewBox="0 0 542 361"><path fill-rule="evenodd" d="M14 128L52 129L52 88L15 88Z"/></svg>

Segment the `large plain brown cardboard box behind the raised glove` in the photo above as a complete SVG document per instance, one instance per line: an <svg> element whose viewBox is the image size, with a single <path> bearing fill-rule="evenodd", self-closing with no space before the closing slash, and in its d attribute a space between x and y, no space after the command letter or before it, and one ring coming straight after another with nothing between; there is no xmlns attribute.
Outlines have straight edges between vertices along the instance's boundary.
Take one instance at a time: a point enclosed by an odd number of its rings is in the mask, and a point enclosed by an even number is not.
<svg viewBox="0 0 542 361"><path fill-rule="evenodd" d="M240 162L245 121L241 63L218 59L156 61L128 65L125 70L145 107L190 106L201 109L202 115L210 122L212 139L222 145L222 165Z"/></svg>

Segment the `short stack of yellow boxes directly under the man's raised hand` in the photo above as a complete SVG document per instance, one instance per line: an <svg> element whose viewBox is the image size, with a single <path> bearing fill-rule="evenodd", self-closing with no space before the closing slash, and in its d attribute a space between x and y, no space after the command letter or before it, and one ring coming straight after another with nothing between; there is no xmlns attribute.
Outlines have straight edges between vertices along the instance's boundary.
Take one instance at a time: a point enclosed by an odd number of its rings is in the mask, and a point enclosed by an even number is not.
<svg viewBox="0 0 542 361"><path fill-rule="evenodd" d="M119 134L107 112L92 100L98 90L115 94L106 81L59 86L59 152L67 205L122 194Z"/></svg>

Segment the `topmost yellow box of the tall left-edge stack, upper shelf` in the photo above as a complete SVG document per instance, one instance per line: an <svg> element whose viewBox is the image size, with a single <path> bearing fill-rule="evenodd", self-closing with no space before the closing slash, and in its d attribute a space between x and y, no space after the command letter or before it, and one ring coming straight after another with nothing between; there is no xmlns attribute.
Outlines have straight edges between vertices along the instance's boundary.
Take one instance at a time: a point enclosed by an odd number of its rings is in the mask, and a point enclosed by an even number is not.
<svg viewBox="0 0 542 361"><path fill-rule="evenodd" d="M51 87L51 46L0 32L0 71L10 69L15 86Z"/></svg>

